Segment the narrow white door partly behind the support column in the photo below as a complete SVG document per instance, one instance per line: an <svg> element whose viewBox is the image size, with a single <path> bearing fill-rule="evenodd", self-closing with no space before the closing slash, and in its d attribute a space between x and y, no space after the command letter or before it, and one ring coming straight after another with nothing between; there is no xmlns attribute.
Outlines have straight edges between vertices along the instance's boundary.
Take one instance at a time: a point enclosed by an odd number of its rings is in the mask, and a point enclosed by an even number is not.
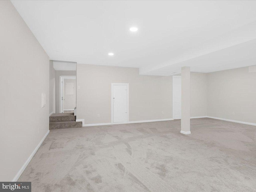
<svg viewBox="0 0 256 192"><path fill-rule="evenodd" d="M173 118L181 119L181 76L172 76Z"/></svg>

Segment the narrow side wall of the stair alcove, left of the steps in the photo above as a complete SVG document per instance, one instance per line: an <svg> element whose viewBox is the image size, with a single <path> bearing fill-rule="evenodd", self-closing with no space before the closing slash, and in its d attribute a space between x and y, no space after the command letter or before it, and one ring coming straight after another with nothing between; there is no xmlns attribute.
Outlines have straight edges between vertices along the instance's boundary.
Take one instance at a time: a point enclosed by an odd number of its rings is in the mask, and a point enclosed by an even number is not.
<svg viewBox="0 0 256 192"><path fill-rule="evenodd" d="M55 69L53 68L53 61L50 60L50 87L49 87L49 114L56 112L56 101L55 101L55 92L56 92L56 85L55 85Z"/></svg>

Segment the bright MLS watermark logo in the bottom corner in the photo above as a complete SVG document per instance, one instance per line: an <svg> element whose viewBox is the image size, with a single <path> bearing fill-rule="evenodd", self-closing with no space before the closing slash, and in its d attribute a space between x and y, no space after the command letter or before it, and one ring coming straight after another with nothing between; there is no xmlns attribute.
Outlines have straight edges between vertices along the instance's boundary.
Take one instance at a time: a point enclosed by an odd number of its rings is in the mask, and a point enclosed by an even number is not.
<svg viewBox="0 0 256 192"><path fill-rule="evenodd" d="M0 192L31 192L31 182L0 182Z"/></svg>

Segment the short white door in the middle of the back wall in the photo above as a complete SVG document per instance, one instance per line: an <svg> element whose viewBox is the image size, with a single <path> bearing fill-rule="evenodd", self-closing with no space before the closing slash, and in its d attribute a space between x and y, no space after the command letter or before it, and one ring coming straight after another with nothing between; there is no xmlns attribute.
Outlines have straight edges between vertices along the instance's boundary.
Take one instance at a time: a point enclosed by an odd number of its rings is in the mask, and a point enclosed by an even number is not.
<svg viewBox="0 0 256 192"><path fill-rule="evenodd" d="M128 85L113 85L113 122L128 121Z"/></svg>

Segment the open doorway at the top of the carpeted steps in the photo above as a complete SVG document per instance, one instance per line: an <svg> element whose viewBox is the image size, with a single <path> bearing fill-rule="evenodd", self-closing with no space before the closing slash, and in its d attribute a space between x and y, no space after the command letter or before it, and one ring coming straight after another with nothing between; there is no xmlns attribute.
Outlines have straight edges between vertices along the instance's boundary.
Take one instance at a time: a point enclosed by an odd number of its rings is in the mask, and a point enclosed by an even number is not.
<svg viewBox="0 0 256 192"><path fill-rule="evenodd" d="M76 76L60 76L60 112L74 113L76 108Z"/></svg>

